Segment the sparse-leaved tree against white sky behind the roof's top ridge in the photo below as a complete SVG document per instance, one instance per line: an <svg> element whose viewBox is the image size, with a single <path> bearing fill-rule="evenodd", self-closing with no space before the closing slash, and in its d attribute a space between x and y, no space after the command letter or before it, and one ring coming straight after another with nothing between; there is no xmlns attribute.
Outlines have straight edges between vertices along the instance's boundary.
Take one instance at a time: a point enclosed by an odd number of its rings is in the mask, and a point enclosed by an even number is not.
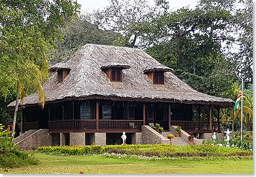
<svg viewBox="0 0 256 177"><path fill-rule="evenodd" d="M102 29L120 33L115 45L139 47L139 40L145 35L144 26L168 10L168 2L157 0L152 5L148 0L111 0L104 10L88 15L90 22Z"/></svg>

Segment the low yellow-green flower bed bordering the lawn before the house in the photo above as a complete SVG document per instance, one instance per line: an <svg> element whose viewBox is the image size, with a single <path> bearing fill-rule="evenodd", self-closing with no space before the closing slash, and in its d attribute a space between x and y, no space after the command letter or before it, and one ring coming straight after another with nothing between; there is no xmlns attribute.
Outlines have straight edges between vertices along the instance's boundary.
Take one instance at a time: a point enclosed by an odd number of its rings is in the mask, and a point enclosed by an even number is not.
<svg viewBox="0 0 256 177"><path fill-rule="evenodd" d="M89 155L104 153L121 153L130 155L147 156L231 156L252 155L252 151L236 148L215 147L211 145L187 145L173 146L167 144L138 144L138 145L115 145L115 146L54 146L39 147L39 151L50 154L66 155Z"/></svg>

